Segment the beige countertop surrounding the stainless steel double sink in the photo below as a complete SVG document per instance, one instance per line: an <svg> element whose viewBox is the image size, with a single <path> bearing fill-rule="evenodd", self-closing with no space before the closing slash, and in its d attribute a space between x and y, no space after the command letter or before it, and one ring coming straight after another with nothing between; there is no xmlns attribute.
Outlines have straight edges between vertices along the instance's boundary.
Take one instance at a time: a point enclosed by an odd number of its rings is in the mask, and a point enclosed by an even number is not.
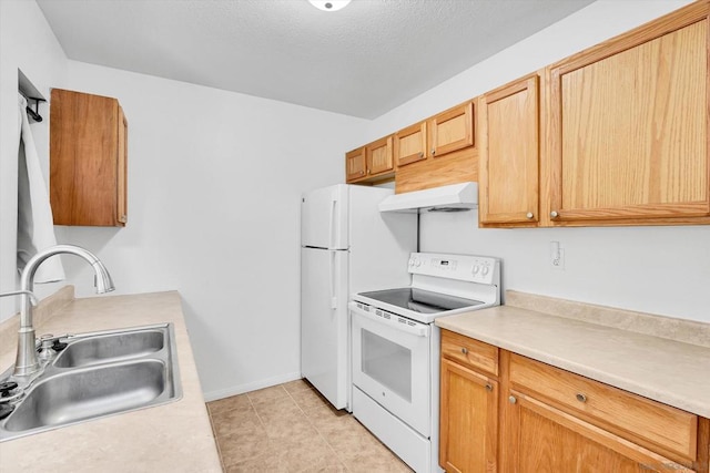
<svg viewBox="0 0 710 473"><path fill-rule="evenodd" d="M73 299L61 289L36 312L38 335L173 322L182 399L0 443L0 471L221 472L197 371L175 291ZM42 305L45 305L44 301ZM41 305L41 306L42 306ZM14 362L17 321L0 325L0 369Z"/></svg>

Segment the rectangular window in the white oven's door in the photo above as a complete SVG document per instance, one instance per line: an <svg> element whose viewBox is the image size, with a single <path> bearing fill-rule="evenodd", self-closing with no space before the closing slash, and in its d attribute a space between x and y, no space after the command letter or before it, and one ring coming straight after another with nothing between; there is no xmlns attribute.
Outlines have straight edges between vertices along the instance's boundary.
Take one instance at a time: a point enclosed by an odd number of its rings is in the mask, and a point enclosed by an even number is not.
<svg viewBox="0 0 710 473"><path fill-rule="evenodd" d="M362 330L363 372L412 402L412 350Z"/></svg>

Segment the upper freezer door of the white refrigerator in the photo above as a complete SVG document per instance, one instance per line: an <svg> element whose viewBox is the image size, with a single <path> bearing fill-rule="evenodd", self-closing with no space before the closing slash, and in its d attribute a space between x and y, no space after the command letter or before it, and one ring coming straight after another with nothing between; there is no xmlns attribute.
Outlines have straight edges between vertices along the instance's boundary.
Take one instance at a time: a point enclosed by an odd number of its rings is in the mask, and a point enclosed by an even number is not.
<svg viewBox="0 0 710 473"><path fill-rule="evenodd" d="M301 197L301 246L347 249L348 186L338 184Z"/></svg>

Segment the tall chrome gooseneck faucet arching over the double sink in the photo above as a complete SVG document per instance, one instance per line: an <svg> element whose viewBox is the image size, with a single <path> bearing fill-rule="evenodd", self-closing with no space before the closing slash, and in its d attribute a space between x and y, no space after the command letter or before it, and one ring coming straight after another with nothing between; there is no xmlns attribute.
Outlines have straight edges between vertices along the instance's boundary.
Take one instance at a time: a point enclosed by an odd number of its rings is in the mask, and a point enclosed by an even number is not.
<svg viewBox="0 0 710 473"><path fill-rule="evenodd" d="M14 362L13 374L16 377L28 377L40 371L40 363L37 359L34 327L32 327L32 298L34 295L34 274L37 268L49 257L60 254L77 255L82 257L93 267L97 274L97 294L110 292L114 289L111 275L103 263L91 251L73 245L57 245L34 255L24 266L20 276L20 290L16 294L23 295L20 300L20 330L18 331L18 356Z"/></svg>

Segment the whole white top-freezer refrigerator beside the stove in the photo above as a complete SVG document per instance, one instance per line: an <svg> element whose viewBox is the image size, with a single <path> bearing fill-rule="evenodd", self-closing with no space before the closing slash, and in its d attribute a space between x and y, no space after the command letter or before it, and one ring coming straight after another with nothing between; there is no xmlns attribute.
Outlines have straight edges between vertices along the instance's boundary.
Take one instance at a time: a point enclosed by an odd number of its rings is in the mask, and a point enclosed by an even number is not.
<svg viewBox="0 0 710 473"><path fill-rule="evenodd" d="M336 409L351 410L351 295L408 286L417 215L381 214L393 189L338 184L301 202L301 372Z"/></svg>

